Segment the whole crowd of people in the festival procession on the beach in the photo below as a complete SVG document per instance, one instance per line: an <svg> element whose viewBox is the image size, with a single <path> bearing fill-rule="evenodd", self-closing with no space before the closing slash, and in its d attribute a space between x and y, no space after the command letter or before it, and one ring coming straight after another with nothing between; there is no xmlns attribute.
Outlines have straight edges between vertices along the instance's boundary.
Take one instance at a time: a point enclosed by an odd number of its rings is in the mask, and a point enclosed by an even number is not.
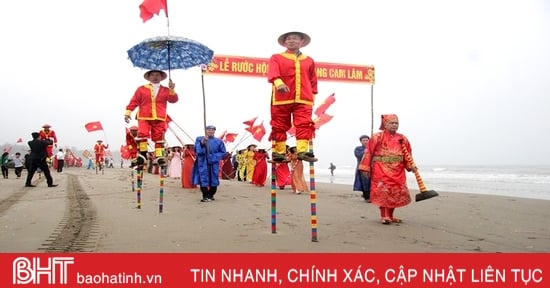
<svg viewBox="0 0 550 288"><path fill-rule="evenodd" d="M303 162L317 161L309 144L315 132L312 108L318 89L315 61L302 53L301 48L307 46L311 38L306 33L291 31L280 35L277 41L285 51L270 57L267 71L267 81L272 85L271 153L271 149L258 149L255 144L235 153L228 152L223 140L214 136L216 127L213 125L205 126L204 135L196 137L193 144L165 147L165 133L170 121L167 105L178 102L179 97L172 79L168 79L168 86L161 84L168 77L164 71L150 70L143 75L148 83L135 90L125 107L126 123L130 123L131 114L137 109L137 125L129 127L126 132L130 167L181 178L183 188L199 187L201 202L215 200L220 178L265 186L268 163L275 166L279 189L290 186L293 193L308 192ZM360 136L361 145L354 151L357 167L353 191L361 192L366 202L379 206L382 224L402 222L394 216L394 210L411 202L405 171L416 172L417 169L405 157L411 147L407 138L396 132L398 126L395 114L382 115L381 132L370 137ZM291 128L295 129L294 147L287 145ZM44 124L40 131L32 132L31 136L28 153L23 158L16 153L13 159L16 177L20 178L22 169L26 167L25 187L35 187L33 176L36 171L42 171L48 187L55 187L57 184L53 183L49 167L53 165L58 173L63 173L67 151L58 149L54 154L58 139L49 124ZM150 141L153 151L149 149ZM97 140L94 155L88 157L88 169L91 166L113 167L112 158L105 158L108 148L109 145L104 144L103 140ZM3 178L9 177L8 158L7 152L0 158ZM336 166L330 163L329 169L334 176Z"/></svg>

